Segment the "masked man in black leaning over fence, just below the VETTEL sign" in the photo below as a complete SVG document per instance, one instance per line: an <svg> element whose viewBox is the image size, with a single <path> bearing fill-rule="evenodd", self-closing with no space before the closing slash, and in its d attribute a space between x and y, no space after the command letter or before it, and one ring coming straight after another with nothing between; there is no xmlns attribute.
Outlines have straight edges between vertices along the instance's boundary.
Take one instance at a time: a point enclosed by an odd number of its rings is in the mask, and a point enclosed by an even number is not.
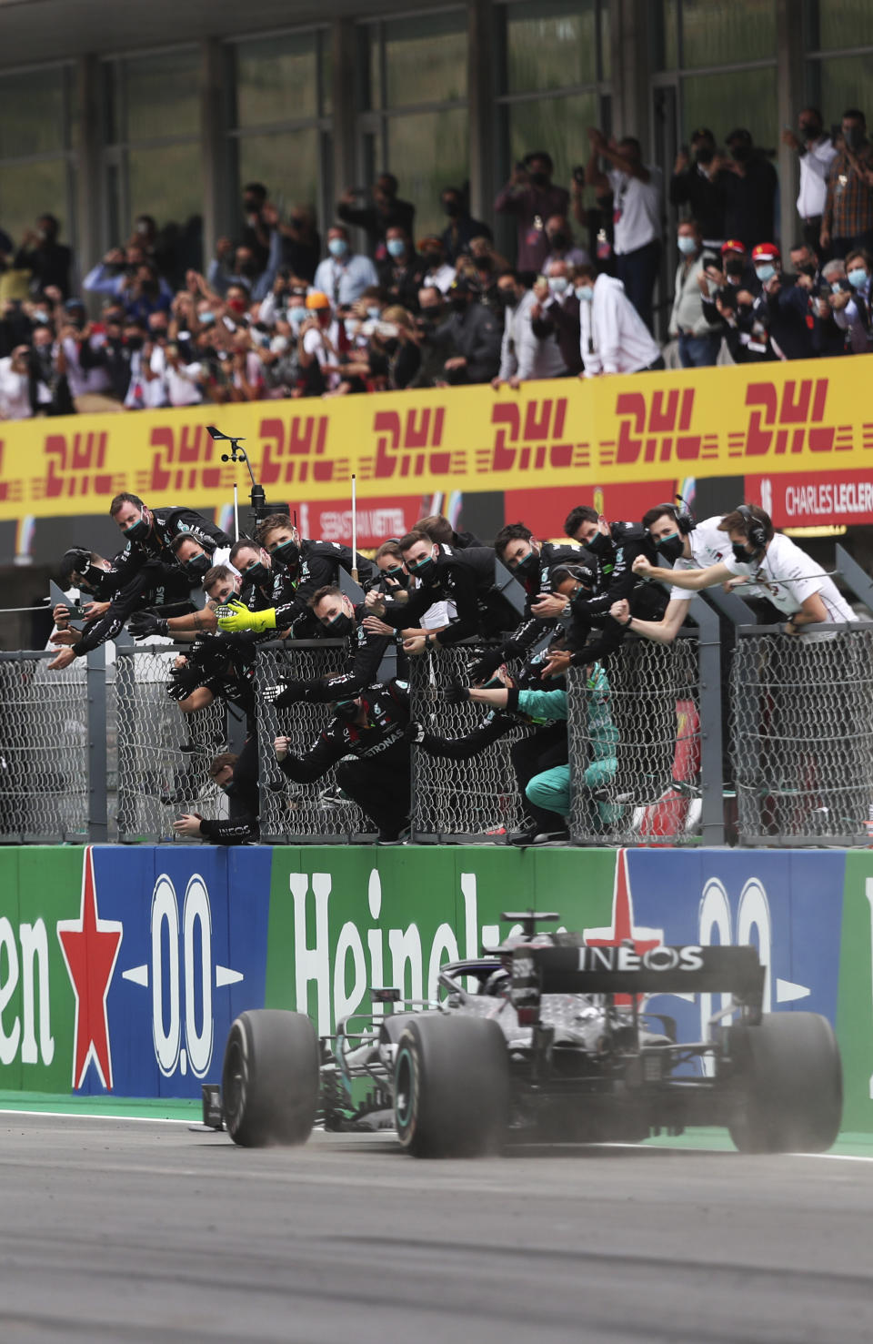
<svg viewBox="0 0 873 1344"><path fill-rule="evenodd" d="M406 602L385 602L380 594L368 593L368 610L396 629L419 625L434 602L454 602L457 612L457 618L445 630L431 630L407 641L407 652L422 653L427 642L449 648L475 634L493 638L517 624L517 613L496 586L494 551L489 546L457 551L431 542L418 530L407 532L398 544L419 587Z"/></svg>

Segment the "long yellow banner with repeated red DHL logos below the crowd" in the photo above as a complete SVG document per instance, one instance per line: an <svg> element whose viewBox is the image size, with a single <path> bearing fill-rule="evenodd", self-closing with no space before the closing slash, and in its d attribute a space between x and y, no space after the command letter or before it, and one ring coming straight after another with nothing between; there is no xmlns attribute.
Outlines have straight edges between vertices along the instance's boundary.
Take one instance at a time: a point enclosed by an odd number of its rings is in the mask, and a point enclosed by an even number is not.
<svg viewBox="0 0 873 1344"><path fill-rule="evenodd" d="M873 356L588 382L0 423L0 519L102 513L113 495L227 504L246 441L267 497L297 504L439 491L598 487L873 466Z"/></svg>

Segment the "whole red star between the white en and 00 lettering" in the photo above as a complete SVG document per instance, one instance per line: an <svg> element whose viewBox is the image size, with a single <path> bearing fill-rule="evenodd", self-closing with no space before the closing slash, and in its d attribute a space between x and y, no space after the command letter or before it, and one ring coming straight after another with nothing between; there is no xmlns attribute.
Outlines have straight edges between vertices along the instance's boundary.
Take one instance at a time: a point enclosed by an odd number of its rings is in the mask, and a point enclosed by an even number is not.
<svg viewBox="0 0 873 1344"><path fill-rule="evenodd" d="M58 941L75 993L75 1056L73 1063L75 1091L82 1086L91 1059L101 1083L107 1091L111 1091L113 1064L109 1050L106 995L116 969L122 931L122 925L118 921L101 919L97 914L94 855L89 845L85 851L82 871L79 918L58 921Z"/></svg>

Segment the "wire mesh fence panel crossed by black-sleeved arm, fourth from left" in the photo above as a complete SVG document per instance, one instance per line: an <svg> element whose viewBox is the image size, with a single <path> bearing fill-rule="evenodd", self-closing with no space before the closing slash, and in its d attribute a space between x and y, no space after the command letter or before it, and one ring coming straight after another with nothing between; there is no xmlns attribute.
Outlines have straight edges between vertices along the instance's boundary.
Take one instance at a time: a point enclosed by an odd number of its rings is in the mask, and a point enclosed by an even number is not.
<svg viewBox="0 0 873 1344"><path fill-rule="evenodd" d="M410 659L410 718L428 732L462 738L482 724L482 704L447 704L446 689L469 683L467 664L481 649L455 645ZM518 726L465 761L412 749L411 833L415 840L489 841L522 823L510 749L529 728Z"/></svg>

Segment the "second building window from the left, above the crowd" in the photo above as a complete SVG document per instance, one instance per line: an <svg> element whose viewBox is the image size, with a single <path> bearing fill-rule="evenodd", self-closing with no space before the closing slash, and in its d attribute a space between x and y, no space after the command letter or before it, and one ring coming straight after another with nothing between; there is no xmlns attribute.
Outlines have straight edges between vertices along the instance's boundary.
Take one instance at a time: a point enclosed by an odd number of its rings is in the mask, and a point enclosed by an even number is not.
<svg viewBox="0 0 873 1344"><path fill-rule="evenodd" d="M137 216L150 215L161 270L180 282L203 263L199 50L107 60L103 133L107 245L125 243Z"/></svg>

